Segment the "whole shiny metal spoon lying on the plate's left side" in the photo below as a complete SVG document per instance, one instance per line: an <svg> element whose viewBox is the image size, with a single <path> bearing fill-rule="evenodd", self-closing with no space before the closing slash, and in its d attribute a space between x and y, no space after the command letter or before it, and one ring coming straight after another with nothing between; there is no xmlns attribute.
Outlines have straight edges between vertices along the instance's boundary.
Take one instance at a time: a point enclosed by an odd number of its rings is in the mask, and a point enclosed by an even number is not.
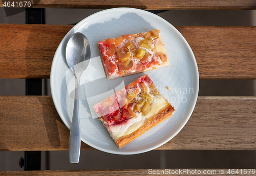
<svg viewBox="0 0 256 176"><path fill-rule="evenodd" d="M78 163L81 147L78 109L80 76L91 61L91 47L86 36L75 33L70 37L66 47L66 60L76 80L75 103L69 137L69 160L71 163Z"/></svg>

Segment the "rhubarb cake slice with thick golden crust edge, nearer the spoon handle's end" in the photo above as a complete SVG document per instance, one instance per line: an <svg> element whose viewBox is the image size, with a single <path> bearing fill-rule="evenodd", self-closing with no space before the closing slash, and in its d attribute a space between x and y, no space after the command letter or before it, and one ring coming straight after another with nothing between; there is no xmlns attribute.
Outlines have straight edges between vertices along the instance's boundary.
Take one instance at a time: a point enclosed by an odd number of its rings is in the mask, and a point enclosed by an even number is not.
<svg viewBox="0 0 256 176"><path fill-rule="evenodd" d="M97 103L93 109L119 148L175 111L147 74Z"/></svg>

